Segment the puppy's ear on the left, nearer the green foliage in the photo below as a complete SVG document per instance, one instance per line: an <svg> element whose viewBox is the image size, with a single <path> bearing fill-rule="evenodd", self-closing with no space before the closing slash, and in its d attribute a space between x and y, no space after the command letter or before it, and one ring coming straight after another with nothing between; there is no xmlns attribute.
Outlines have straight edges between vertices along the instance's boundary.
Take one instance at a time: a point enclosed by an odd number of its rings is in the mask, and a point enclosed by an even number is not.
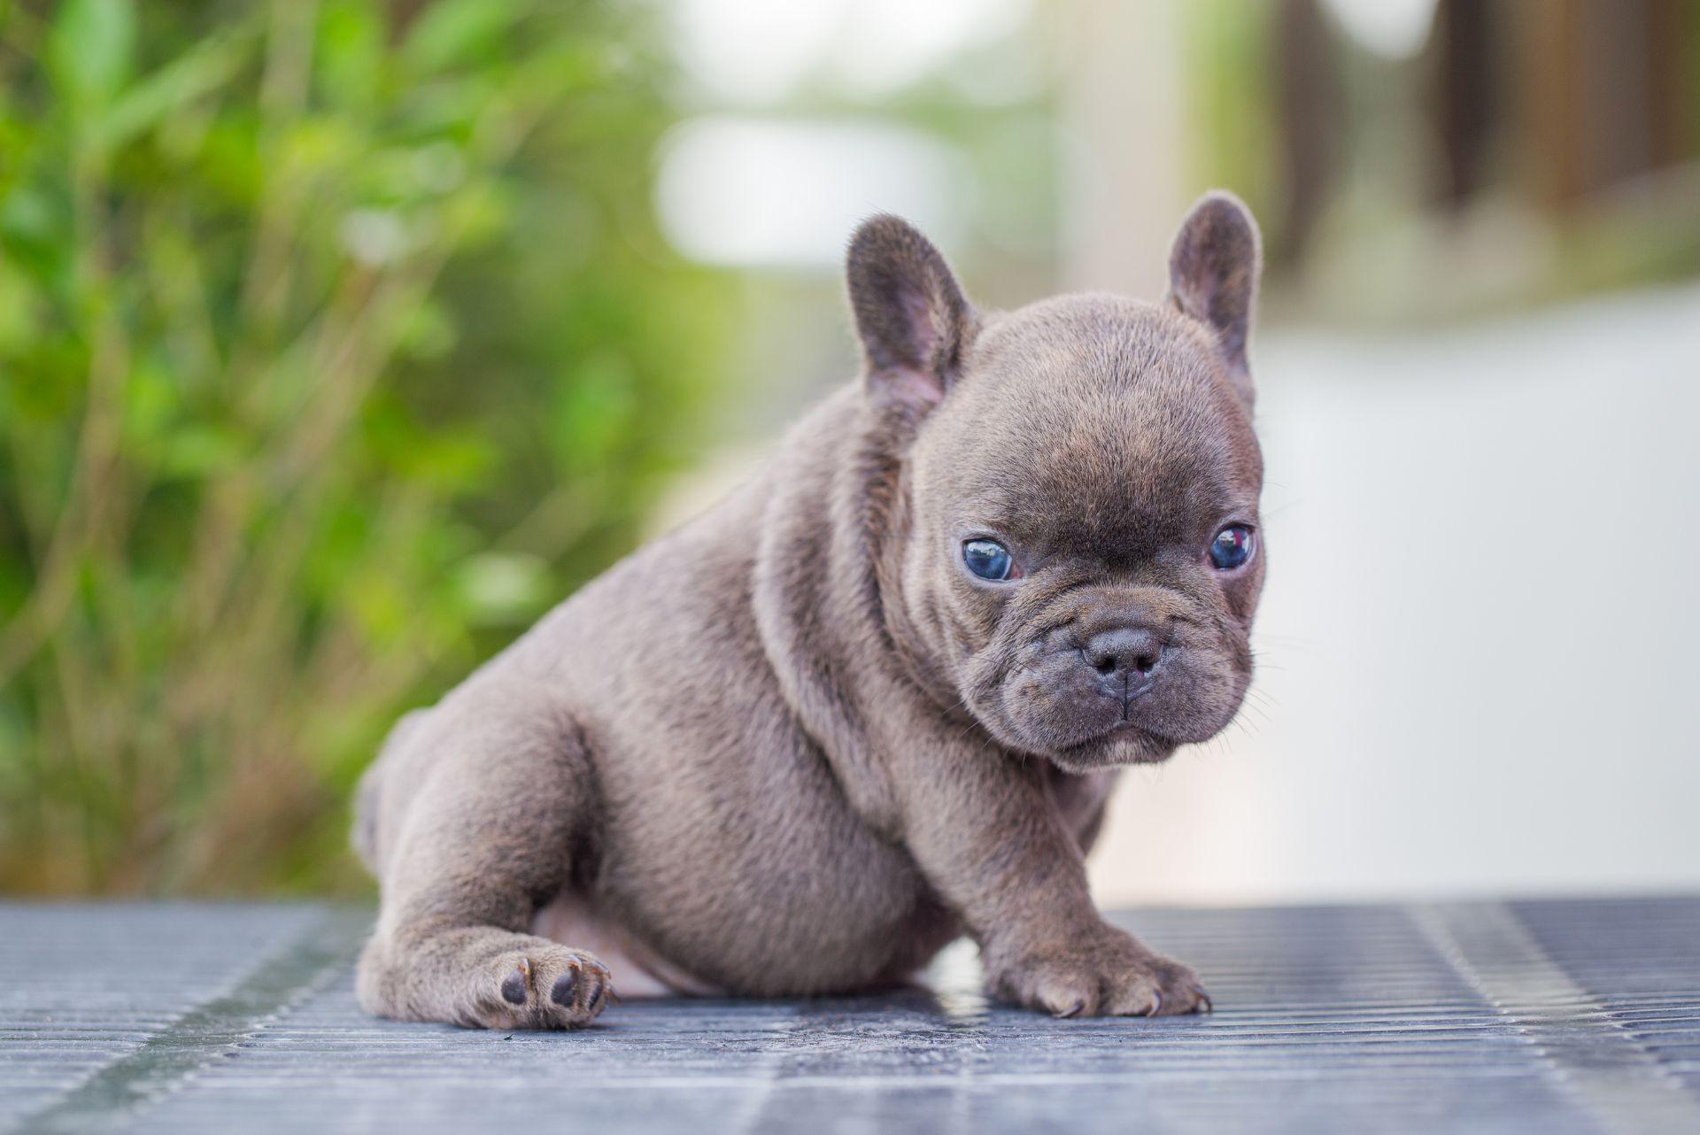
<svg viewBox="0 0 1700 1135"><path fill-rule="evenodd" d="M955 381L972 309L932 241L891 214L869 217L845 262L869 394L925 413Z"/></svg>

